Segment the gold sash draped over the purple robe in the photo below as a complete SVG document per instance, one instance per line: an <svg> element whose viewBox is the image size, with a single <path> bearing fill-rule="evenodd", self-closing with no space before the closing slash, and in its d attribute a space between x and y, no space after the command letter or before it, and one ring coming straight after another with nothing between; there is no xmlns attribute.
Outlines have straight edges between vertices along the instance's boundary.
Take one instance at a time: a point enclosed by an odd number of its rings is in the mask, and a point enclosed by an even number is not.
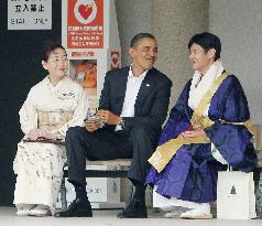
<svg viewBox="0 0 262 226"><path fill-rule="evenodd" d="M208 104L211 101L214 94L217 92L218 87L221 85L223 79L229 75L229 72L225 72L221 74L212 84L210 89L203 96L199 105L193 112L190 123L193 125L193 129L206 129L210 127L214 121L211 121L208 117L203 116L205 109ZM232 125L244 125L251 132L253 131L251 120L244 122L227 122L220 120L222 123L232 123ZM252 132L253 133L253 132ZM210 143L210 140L206 137L197 137L197 138L184 138L177 137L175 139L171 139L170 141L163 143L157 147L156 151L152 154L152 157L148 160L155 170L160 173L170 160L174 157L177 150L182 146L193 144L193 143Z"/></svg>

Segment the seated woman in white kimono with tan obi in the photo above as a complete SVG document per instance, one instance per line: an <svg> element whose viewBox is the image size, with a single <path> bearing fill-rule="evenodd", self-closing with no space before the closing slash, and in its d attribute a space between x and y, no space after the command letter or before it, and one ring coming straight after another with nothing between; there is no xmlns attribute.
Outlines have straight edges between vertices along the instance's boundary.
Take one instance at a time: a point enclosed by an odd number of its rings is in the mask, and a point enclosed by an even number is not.
<svg viewBox="0 0 262 226"><path fill-rule="evenodd" d="M25 133L13 163L18 174L14 204L20 216L54 214L66 161L65 147L57 141L69 127L84 126L86 93L66 76L67 64L62 45L47 45L42 65L48 75L31 88L19 111Z"/></svg>

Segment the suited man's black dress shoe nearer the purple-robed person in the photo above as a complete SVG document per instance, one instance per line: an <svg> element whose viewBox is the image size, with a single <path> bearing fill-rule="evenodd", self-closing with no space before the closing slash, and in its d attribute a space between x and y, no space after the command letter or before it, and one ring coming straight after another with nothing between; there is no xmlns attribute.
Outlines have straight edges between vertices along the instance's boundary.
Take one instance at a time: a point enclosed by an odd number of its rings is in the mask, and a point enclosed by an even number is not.
<svg viewBox="0 0 262 226"><path fill-rule="evenodd" d="M120 212L117 217L119 218L148 218L146 206L140 200L132 200L127 208Z"/></svg>

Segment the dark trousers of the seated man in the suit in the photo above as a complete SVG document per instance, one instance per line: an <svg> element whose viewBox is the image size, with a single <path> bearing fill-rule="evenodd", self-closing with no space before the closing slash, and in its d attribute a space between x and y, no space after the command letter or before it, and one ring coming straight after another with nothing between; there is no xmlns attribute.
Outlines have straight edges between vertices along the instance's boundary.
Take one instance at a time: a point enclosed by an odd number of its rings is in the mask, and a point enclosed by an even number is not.
<svg viewBox="0 0 262 226"><path fill-rule="evenodd" d="M86 185L86 159L131 159L128 177L144 183L149 170L148 159L152 155L159 133L146 126L132 130L108 131L99 129L88 132L86 128L73 127L66 133L68 180Z"/></svg>

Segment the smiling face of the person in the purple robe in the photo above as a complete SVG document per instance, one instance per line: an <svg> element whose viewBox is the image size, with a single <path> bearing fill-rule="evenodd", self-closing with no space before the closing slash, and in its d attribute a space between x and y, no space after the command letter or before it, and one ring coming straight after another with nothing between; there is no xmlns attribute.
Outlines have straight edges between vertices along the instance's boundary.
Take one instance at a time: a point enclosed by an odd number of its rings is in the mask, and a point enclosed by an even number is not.
<svg viewBox="0 0 262 226"><path fill-rule="evenodd" d="M215 49L205 51L200 45L194 43L189 50L192 68L204 75L215 62Z"/></svg>

